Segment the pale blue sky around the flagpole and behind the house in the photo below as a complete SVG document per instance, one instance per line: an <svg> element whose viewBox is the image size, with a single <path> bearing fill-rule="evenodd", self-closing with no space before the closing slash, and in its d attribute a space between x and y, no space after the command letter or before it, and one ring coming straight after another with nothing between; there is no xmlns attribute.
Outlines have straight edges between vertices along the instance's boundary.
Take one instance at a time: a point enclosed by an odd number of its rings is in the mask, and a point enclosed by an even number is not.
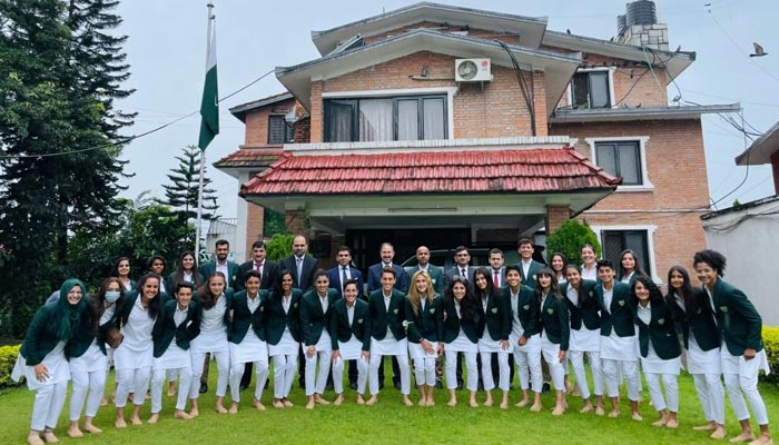
<svg viewBox="0 0 779 445"><path fill-rule="evenodd" d="M444 2L444 1L440 1ZM125 44L136 91L117 108L136 111L136 125L126 135L139 135L197 111L206 63L207 0L125 0L117 12L124 18L118 32ZM310 31L326 30L391 11L416 1L262 1L214 0L217 29L219 97L246 87L278 66L293 66L319 57ZM445 1L447 4L529 17L548 17L548 29L609 39L627 0L500 0ZM655 1L659 21L668 23L670 48L696 51L697 61L669 86L669 98L701 105L740 102L743 119L766 131L779 121L779 33L775 0L662 0ZM709 4L709 6L706 6ZM752 42L769 55L749 58ZM235 218L238 181L211 164L244 142L244 125L228 109L283 92L269 75L220 103L220 132L206 150L207 176L216 189L219 214ZM741 117L734 116L737 120ZM709 192L717 208L733 199L747 202L773 195L770 166L738 167L733 158L749 140L716 115L704 115ZM196 145L199 115L134 140L122 157L129 161L125 197L149 190L162 196L166 175L178 165L181 148ZM684 166L673 165L683 175ZM746 180L745 180L746 179ZM743 181L742 185L740 185ZM740 185L740 187L739 187ZM724 197L731 190L731 195Z"/></svg>

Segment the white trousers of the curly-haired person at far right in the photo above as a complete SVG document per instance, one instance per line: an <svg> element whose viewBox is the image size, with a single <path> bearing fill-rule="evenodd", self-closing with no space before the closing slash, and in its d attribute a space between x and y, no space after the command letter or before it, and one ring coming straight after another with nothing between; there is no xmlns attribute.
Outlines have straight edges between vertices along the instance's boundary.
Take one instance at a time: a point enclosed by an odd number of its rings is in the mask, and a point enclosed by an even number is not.
<svg viewBox="0 0 779 445"><path fill-rule="evenodd" d="M724 366L723 366L724 368ZM749 409L745 397L749 400L749 406L752 407L755 418L758 425L768 425L768 412L766 404L758 392L758 372L760 370L760 360L752 358L751 360L739 359L739 374L722 374L724 376L724 387L728 388L728 398L730 406L736 413L739 421L749 418Z"/></svg>

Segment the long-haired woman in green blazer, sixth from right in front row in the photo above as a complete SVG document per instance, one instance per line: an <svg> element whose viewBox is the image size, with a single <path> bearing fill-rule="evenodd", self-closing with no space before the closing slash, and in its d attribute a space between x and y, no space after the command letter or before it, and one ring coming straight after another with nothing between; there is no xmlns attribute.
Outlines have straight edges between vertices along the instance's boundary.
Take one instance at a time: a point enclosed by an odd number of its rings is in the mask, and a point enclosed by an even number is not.
<svg viewBox="0 0 779 445"><path fill-rule="evenodd" d="M535 298L541 314L541 355L549 365L554 383L555 405L553 416L565 412L565 354L568 353L571 327L568 305L560 295L558 277L549 267L535 276Z"/></svg>

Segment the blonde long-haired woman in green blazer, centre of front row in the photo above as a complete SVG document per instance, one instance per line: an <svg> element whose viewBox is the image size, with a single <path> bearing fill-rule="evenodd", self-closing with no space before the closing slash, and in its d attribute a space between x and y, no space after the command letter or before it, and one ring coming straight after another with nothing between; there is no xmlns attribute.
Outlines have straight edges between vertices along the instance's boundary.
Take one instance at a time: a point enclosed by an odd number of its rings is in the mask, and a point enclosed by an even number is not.
<svg viewBox="0 0 779 445"><path fill-rule="evenodd" d="M411 277L411 288L405 300L408 355L414 360L416 386L420 388L420 406L433 406L435 389L435 359L444 350L442 300L433 290L433 279L425 271Z"/></svg>

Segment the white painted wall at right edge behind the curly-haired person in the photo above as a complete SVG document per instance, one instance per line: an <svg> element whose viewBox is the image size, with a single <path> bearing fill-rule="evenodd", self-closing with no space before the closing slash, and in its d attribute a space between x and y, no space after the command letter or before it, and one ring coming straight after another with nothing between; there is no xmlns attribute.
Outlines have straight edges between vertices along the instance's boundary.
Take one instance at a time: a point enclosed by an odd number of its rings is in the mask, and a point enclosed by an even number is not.
<svg viewBox="0 0 779 445"><path fill-rule="evenodd" d="M704 220L703 229L707 247L728 258L724 280L747 294L763 325L779 326L779 198Z"/></svg>

